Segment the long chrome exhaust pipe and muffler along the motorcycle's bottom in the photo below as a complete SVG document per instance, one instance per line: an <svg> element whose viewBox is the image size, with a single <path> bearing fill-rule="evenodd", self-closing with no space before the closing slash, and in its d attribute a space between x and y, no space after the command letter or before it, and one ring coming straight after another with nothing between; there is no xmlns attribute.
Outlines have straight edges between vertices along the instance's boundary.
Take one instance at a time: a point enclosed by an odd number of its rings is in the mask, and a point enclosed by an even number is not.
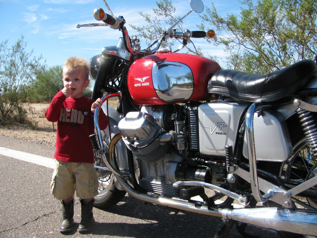
<svg viewBox="0 0 317 238"><path fill-rule="evenodd" d="M114 156L115 144L119 141L120 135L114 136L109 146L110 157ZM112 166L108 167L111 171L114 164L114 157L108 161ZM112 171L113 172L113 171ZM222 217L244 223L269 228L278 231L288 231L302 235L317 235L317 210L308 209L288 209L288 208L209 208L195 202L188 202L182 199L171 199L160 196L150 196L141 194L130 186L120 175L114 173L117 181L122 188L131 196L144 201L168 208L175 208L184 211L195 212L204 215Z"/></svg>

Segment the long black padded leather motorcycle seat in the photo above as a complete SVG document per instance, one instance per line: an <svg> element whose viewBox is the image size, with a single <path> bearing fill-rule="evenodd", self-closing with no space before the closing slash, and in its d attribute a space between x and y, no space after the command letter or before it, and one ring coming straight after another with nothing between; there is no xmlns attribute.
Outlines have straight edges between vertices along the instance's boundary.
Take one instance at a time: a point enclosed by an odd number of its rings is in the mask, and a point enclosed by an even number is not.
<svg viewBox="0 0 317 238"><path fill-rule="evenodd" d="M312 60L302 60L270 74L222 69L209 80L208 92L247 102L273 102L294 93L313 77L317 77L317 65Z"/></svg>

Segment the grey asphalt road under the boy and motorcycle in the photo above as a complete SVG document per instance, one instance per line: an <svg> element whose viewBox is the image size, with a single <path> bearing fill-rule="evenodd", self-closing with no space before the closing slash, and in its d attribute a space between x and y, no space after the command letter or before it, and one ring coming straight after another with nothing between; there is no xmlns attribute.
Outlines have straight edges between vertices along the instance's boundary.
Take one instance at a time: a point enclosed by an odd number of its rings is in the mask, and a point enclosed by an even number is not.
<svg viewBox="0 0 317 238"><path fill-rule="evenodd" d="M53 157L54 148L0 136L0 147L45 157ZM0 237L213 237L223 225L220 218L191 212L173 212L145 205L126 195L122 202L104 211L94 208L96 220L91 234L76 231L80 221L80 202L74 206L74 231L58 231L61 202L50 194L53 169L0 155ZM249 234L262 238L279 237L275 231L248 226ZM235 227L229 236L241 238Z"/></svg>

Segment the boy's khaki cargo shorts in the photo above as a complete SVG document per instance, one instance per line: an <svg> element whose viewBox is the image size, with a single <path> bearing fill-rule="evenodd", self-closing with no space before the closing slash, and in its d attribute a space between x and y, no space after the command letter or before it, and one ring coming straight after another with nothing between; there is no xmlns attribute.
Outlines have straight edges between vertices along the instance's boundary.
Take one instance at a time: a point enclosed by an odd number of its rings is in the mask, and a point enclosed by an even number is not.
<svg viewBox="0 0 317 238"><path fill-rule="evenodd" d="M93 163L74 163L56 160L51 181L51 193L58 200L75 194L81 199L98 195L98 179Z"/></svg>

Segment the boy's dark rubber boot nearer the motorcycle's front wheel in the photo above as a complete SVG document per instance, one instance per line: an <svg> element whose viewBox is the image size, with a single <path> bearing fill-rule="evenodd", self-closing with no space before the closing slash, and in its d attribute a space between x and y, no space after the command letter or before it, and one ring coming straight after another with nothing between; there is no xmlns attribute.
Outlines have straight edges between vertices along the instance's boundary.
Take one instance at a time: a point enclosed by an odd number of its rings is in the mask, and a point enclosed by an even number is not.
<svg viewBox="0 0 317 238"><path fill-rule="evenodd" d="M95 224L95 219L93 215L93 203L94 199L91 200L88 204L84 205L82 199L81 202L81 221L79 223L77 231L86 232L90 231Z"/></svg>

